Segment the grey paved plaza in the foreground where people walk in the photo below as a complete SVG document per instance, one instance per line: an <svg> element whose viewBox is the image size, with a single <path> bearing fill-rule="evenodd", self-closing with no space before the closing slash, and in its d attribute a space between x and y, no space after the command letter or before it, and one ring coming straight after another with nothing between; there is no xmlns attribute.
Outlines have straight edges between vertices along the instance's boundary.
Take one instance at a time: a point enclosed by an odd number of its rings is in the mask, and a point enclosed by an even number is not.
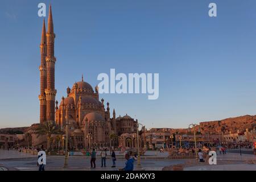
<svg viewBox="0 0 256 182"><path fill-rule="evenodd" d="M97 152L98 155L100 152ZM76 154L76 153L75 153ZM144 170L161 171L163 167L174 164L187 164L194 159L167 159L168 152L160 153L159 151L147 151L142 157L141 165ZM256 171L256 164L247 164L249 160L256 160L255 155L237 154L228 152L225 155L217 155L217 165L209 165L206 163L195 164L194 166L185 166L184 171L215 171L215 170L253 170ZM96 168L90 168L90 157L82 156L77 153L74 156L69 156L68 168L64 169L64 156L47 156L46 170L106 170L117 171L125 166L126 160L123 154L117 152L117 161L115 168L112 168L112 160L107 158L106 167L101 167L101 159L97 156ZM21 171L37 171L37 156L21 153L14 150L0 150L0 171L3 170L21 170ZM134 163L135 170L137 161Z"/></svg>

